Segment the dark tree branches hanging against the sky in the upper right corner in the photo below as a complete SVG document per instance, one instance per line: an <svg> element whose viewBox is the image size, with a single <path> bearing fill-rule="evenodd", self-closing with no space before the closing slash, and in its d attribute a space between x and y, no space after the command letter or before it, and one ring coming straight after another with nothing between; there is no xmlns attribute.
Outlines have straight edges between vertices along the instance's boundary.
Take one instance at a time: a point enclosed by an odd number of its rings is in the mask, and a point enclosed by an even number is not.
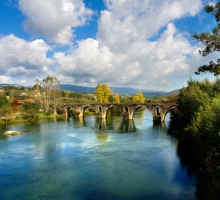
<svg viewBox="0 0 220 200"><path fill-rule="evenodd" d="M205 45L205 48L202 51L199 51L202 56L207 56L208 54L220 51L220 2L217 2L215 6L206 5L205 10L207 13L211 13L214 15L217 24L211 33L194 33L192 37L200 41ZM200 74L201 72L210 72L213 73L214 76L218 76L220 74L220 59L217 60L217 63L210 61L208 65L202 65L197 69L195 74Z"/></svg>

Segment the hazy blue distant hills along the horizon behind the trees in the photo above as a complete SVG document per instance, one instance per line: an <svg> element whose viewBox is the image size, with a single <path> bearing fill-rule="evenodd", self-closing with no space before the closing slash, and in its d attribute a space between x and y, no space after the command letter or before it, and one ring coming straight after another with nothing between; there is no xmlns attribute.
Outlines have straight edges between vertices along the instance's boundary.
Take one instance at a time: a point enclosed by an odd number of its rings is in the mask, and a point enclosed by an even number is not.
<svg viewBox="0 0 220 200"><path fill-rule="evenodd" d="M0 88L2 86L15 86L15 87L22 87L22 85L18 84L0 84ZM24 86L23 86L24 87ZM25 88L27 88L25 86ZM120 95L130 95L130 94L136 94L137 92L143 93L145 96L167 96L170 93L178 92L179 90L174 90L171 92L163 92L163 91L154 91L154 90L139 90L135 88L130 87L110 87L114 93L118 93ZM94 93L95 87L84 87L84 86L77 86L77 85L70 85L70 84L61 84L62 90L69 90L71 92L82 92L82 93Z"/></svg>

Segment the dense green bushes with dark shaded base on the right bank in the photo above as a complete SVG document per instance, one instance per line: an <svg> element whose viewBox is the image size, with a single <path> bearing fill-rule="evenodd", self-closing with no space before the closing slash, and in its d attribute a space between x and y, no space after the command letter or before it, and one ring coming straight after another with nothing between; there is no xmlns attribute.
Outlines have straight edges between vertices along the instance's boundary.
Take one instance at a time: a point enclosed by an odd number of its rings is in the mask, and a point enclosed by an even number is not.
<svg viewBox="0 0 220 200"><path fill-rule="evenodd" d="M177 103L185 127L181 148L196 162L197 199L220 199L220 80L189 80ZM192 168L190 160L185 164Z"/></svg>

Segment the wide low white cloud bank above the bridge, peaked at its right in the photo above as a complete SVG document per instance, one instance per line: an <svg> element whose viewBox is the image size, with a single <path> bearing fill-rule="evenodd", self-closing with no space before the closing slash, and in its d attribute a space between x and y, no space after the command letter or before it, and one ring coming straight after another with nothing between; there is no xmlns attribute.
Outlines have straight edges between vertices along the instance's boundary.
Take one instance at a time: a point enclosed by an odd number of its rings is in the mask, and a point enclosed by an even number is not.
<svg viewBox="0 0 220 200"><path fill-rule="evenodd" d="M169 23L158 41L135 41L123 53L111 51L98 40L87 39L80 41L71 54L58 52L54 58L63 82L72 77L79 84L166 88L173 84L173 77L188 75L189 56L193 52L194 48Z"/></svg>

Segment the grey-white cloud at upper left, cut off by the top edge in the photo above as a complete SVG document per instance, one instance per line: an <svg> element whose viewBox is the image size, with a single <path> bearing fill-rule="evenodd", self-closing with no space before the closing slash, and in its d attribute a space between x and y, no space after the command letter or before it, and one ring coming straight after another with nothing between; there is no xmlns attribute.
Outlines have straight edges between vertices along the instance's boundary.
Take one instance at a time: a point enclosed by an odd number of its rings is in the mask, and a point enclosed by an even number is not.
<svg viewBox="0 0 220 200"><path fill-rule="evenodd" d="M82 0L19 0L19 8L27 17L23 25L29 33L61 45L70 44L73 28L93 14Z"/></svg>

